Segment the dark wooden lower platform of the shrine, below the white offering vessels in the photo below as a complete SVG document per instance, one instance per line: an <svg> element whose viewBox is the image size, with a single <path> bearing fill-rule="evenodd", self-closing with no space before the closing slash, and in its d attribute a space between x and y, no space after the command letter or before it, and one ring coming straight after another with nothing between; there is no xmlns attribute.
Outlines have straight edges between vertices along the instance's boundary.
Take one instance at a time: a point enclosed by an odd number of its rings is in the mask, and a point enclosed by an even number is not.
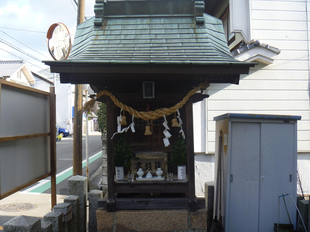
<svg viewBox="0 0 310 232"><path fill-rule="evenodd" d="M186 176L187 177L187 176ZM188 200L188 179L172 181L117 181L114 178L114 190L117 193L114 209L196 209L205 208L205 198ZM145 195L161 193L162 196ZM136 193L136 194L135 194ZM98 209L108 209L108 199L99 199ZM191 207L190 207L191 206ZM194 206L194 207L193 207Z"/></svg>

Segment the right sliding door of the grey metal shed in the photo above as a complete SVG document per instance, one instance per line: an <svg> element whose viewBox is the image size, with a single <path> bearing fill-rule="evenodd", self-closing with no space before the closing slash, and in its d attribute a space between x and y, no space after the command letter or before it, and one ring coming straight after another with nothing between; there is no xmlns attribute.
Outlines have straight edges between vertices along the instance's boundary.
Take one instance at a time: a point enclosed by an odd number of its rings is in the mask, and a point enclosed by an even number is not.
<svg viewBox="0 0 310 232"><path fill-rule="evenodd" d="M295 190L294 179L294 124L261 123L259 231L272 232L278 222L278 196ZM292 180L290 181L290 175ZM290 197L286 206L293 224L294 207ZM280 198L280 223L289 224L283 199Z"/></svg>

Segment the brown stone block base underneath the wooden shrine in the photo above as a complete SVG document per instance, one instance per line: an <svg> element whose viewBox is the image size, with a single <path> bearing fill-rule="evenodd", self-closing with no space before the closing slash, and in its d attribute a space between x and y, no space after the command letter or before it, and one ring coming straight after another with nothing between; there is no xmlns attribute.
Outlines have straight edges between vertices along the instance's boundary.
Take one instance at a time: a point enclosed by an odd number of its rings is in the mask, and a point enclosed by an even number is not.
<svg viewBox="0 0 310 232"><path fill-rule="evenodd" d="M206 232L207 209L97 210L98 232Z"/></svg>

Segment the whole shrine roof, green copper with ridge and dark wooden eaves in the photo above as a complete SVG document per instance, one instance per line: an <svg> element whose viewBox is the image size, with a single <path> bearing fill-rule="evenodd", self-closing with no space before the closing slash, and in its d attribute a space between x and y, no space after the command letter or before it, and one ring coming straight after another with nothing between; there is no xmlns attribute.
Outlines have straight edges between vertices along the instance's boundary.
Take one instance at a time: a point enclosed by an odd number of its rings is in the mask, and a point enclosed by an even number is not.
<svg viewBox="0 0 310 232"><path fill-rule="evenodd" d="M222 21L203 11L203 0L96 0L95 17L77 26L68 59L44 63L62 83L190 78L238 84L256 63L235 60Z"/></svg>

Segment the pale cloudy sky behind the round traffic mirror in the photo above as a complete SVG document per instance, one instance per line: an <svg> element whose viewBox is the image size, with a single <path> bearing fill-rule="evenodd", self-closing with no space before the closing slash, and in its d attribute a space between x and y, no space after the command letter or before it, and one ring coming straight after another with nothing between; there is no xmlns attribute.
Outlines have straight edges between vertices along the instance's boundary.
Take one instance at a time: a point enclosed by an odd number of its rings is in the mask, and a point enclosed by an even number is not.
<svg viewBox="0 0 310 232"><path fill-rule="evenodd" d="M95 0L85 0L85 16L88 19L95 16L94 5ZM77 25L74 0L1 0L0 60L25 60L32 71L48 68L40 61L52 60L46 36L54 23L66 25L73 42Z"/></svg>

